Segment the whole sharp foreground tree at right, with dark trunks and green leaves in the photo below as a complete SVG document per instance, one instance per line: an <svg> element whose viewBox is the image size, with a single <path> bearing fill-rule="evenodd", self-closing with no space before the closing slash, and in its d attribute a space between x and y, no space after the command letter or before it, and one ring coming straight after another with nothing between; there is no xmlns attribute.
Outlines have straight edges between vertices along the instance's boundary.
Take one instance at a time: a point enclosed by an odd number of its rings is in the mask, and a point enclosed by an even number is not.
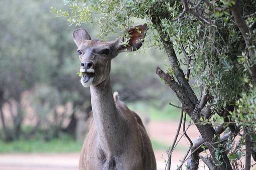
<svg viewBox="0 0 256 170"><path fill-rule="evenodd" d="M238 169L240 155L245 155L245 169L250 168L256 125L254 0L65 2L71 11L52 10L71 23L99 25L103 37L127 29L138 19L146 20L154 37L148 44L163 49L169 58L167 71L157 67L156 73L182 103L180 124L183 121L185 127L188 114L201 134L192 142L183 128L191 145L179 168L187 162L187 169L198 169L202 159L210 169ZM195 92L192 80L201 92ZM170 169L173 149L168 151L166 169ZM201 156L203 150L209 154Z"/></svg>

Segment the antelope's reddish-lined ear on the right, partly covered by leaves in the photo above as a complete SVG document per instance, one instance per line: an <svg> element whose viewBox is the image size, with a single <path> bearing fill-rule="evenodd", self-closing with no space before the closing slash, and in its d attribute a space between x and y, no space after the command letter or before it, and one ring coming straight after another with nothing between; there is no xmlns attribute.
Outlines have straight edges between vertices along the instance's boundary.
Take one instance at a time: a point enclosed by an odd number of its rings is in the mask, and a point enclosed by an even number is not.
<svg viewBox="0 0 256 170"><path fill-rule="evenodd" d="M139 49L144 42L147 30L148 27L146 23L130 28L128 30L129 37L121 37L119 39L119 43L116 47L117 52L135 51Z"/></svg>

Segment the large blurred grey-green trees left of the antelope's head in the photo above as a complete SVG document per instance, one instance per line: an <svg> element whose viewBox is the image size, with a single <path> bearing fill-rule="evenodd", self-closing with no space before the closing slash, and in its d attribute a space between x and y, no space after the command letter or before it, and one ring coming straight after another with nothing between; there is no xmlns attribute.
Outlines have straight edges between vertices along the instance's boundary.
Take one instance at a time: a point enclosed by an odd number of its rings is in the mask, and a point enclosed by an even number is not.
<svg viewBox="0 0 256 170"><path fill-rule="evenodd" d="M73 102L75 108L82 109L86 101L90 102L88 91L74 83L79 82L79 77L73 57L75 45L69 36L72 27L49 11L51 4L58 3L52 0L4 0L0 7L5 13L0 23L0 115L6 141L18 139L23 134L23 120L27 117L22 104L25 91L34 97L30 104L37 117L30 135L42 128L42 121L46 120L47 114L54 114L58 105ZM65 72L67 69L73 71ZM12 115L4 112L4 104L10 105ZM50 108L46 109L47 106ZM17 109L12 111L11 108ZM12 117L11 120L8 117ZM60 124L54 123L45 133L55 130L53 136L58 136L62 129Z"/></svg>

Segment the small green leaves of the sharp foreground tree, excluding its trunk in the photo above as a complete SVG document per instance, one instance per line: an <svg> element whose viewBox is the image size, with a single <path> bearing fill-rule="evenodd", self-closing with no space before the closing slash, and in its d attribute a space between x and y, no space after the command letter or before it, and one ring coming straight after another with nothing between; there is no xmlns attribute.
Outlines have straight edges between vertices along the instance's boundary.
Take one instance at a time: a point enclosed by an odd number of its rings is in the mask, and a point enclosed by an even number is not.
<svg viewBox="0 0 256 170"><path fill-rule="evenodd" d="M100 36L104 37L110 32L127 29L138 20L147 22L150 28L150 37L147 38L149 46L166 50L164 44L171 42L180 56L178 65L191 71L190 79L194 80L194 87L204 87L209 94L207 105L210 105L212 117L208 120L218 117L220 110L225 110L227 106L235 105L229 120L235 121L239 127L249 127L250 132L254 131L256 100L251 68L256 61L256 30L251 28L249 33L240 31L232 13L237 0L189 0L187 4L187 0L65 2L69 10L52 8L53 11L66 16L71 24L80 25L85 22L98 25ZM256 22L255 9L251 7L256 2L240 2L239 12L250 28ZM251 42L249 45L248 41ZM167 65L171 77L174 77L175 71L173 65ZM186 79L189 79L188 75ZM223 123L224 118L221 117L219 123ZM208 124L208 120L202 121ZM213 158L221 165L221 154L224 151L221 145L217 147ZM241 155L244 154L230 154L229 158L239 160Z"/></svg>

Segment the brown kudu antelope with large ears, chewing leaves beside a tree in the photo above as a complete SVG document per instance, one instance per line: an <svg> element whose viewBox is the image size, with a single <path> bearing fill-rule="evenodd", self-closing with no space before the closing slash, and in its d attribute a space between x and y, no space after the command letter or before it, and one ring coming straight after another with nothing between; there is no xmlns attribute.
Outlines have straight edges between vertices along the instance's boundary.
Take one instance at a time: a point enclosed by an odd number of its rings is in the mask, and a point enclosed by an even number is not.
<svg viewBox="0 0 256 170"><path fill-rule="evenodd" d="M81 60L81 83L90 86L93 119L83 143L80 170L155 170L156 160L141 118L112 94L110 62L119 52L134 51L143 44L147 25L129 29L130 39L91 39L84 28L73 33Z"/></svg>

